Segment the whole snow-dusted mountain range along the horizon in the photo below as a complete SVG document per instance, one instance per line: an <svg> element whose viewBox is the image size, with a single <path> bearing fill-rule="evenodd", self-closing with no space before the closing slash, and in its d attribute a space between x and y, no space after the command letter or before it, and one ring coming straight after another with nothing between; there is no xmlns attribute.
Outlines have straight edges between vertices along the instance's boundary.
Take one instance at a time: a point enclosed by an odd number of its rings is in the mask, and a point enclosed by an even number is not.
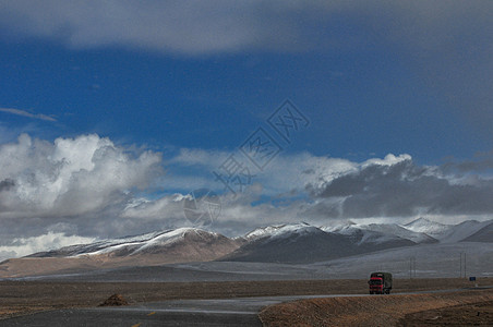
<svg viewBox="0 0 493 327"><path fill-rule="evenodd" d="M255 229L227 238L196 228L65 246L0 263L0 277L69 274L81 269L191 262L311 264L420 244L493 242L493 220L443 225L419 218L406 225L305 222Z"/></svg>

